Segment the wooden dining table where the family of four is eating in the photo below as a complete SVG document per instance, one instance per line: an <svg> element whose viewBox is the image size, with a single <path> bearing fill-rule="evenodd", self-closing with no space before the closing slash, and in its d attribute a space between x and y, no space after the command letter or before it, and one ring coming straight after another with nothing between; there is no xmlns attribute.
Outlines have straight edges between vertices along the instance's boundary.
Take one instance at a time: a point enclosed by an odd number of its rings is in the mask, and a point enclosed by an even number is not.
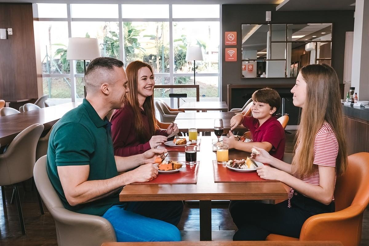
<svg viewBox="0 0 369 246"><path fill-rule="evenodd" d="M120 201L181 201L199 200L200 240L211 240L211 200L283 200L287 191L279 181L228 182L214 181L211 136L201 137L201 148L197 152L199 163L196 184L130 184L123 188ZM185 161L184 152L170 151L166 160ZM230 151L229 159L249 156L243 151ZM159 174L170 175L170 174Z"/></svg>

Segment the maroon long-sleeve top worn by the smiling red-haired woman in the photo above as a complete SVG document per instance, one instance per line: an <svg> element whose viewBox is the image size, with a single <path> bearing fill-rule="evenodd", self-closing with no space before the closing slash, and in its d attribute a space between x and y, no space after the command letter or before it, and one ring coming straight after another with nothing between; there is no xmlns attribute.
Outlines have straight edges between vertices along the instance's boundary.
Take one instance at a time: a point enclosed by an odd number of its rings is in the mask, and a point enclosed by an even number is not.
<svg viewBox="0 0 369 246"><path fill-rule="evenodd" d="M141 116L146 129L149 129L149 121L145 111L141 110ZM116 110L111 117L111 124L114 155L138 155L151 149L149 142L140 142L138 139L134 128L134 112L130 105L125 104L123 108ZM162 129L157 129L155 135L168 136L166 130ZM149 138L151 137L149 136Z"/></svg>

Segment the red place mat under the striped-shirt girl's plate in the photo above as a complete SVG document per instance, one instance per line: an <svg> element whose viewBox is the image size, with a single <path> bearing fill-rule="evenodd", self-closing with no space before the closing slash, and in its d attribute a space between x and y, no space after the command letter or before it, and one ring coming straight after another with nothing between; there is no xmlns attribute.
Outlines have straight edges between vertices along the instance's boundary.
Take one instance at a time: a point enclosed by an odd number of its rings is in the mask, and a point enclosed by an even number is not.
<svg viewBox="0 0 369 246"><path fill-rule="evenodd" d="M268 165L268 164L265 164ZM238 172L231 170L225 165L220 165L213 160L214 182L275 182L275 180L266 180L259 177L256 171Z"/></svg>

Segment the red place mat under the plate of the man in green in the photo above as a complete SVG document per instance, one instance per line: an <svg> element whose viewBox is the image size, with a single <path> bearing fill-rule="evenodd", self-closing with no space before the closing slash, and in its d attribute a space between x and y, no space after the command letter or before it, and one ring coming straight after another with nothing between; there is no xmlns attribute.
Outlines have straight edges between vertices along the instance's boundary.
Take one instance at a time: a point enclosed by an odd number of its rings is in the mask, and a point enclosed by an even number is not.
<svg viewBox="0 0 369 246"><path fill-rule="evenodd" d="M132 184L196 184L200 162L198 161L196 163L195 165L186 165L185 169L176 173L159 173L156 179L144 183Z"/></svg>

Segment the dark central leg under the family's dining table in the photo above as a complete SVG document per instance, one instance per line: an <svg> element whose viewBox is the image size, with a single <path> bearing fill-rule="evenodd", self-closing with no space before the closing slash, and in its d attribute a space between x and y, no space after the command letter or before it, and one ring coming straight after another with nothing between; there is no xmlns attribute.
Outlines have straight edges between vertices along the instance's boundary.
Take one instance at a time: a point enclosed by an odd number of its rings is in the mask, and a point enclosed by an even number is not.
<svg viewBox="0 0 369 246"><path fill-rule="evenodd" d="M211 241L211 201L200 201L200 241Z"/></svg>

